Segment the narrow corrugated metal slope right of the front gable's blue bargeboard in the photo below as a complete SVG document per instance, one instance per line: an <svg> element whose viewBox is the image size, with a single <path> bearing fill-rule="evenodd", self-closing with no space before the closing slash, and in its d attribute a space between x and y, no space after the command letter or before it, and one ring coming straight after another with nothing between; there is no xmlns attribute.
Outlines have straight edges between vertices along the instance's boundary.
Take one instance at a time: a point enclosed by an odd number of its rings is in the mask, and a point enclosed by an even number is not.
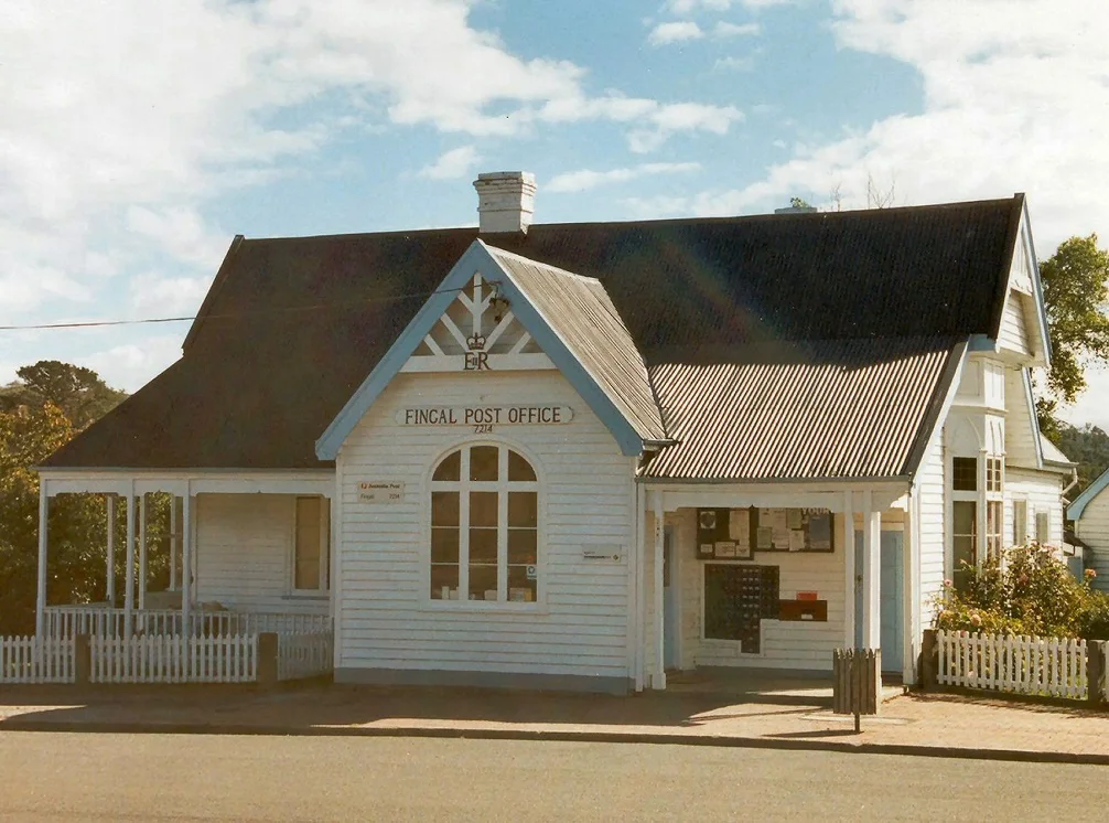
<svg viewBox="0 0 1109 823"><path fill-rule="evenodd" d="M639 436L667 439L643 357L600 282L486 247Z"/></svg>

